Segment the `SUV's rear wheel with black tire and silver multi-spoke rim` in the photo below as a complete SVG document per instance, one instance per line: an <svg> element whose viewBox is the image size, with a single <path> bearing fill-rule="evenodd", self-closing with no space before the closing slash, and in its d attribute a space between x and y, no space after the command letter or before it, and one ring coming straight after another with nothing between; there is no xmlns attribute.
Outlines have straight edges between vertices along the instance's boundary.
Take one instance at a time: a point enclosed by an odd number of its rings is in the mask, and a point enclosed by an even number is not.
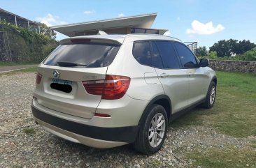
<svg viewBox="0 0 256 168"><path fill-rule="evenodd" d="M154 122L156 121L156 122ZM152 105L143 119L134 142L136 151L151 155L164 144L168 127L166 110L161 105Z"/></svg>

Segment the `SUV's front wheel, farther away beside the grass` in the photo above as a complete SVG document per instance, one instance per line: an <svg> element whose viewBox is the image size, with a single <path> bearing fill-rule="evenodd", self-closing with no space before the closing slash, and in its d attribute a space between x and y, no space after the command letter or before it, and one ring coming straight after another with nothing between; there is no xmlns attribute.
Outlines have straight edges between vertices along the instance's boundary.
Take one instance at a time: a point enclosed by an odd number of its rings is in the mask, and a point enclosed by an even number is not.
<svg viewBox="0 0 256 168"><path fill-rule="evenodd" d="M206 109L211 109L211 107L213 107L216 98L216 91L216 84L212 81L207 92L206 100L202 104L202 107Z"/></svg>

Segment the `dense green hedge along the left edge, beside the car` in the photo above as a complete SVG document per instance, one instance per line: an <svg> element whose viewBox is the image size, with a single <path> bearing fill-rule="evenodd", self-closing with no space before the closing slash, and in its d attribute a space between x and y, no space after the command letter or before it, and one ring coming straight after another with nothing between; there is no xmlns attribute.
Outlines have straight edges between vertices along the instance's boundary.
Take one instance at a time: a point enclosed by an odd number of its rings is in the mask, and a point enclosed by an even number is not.
<svg viewBox="0 0 256 168"><path fill-rule="evenodd" d="M6 50L2 49L0 55L3 56L0 56L0 61L39 63L58 45L50 35L45 36L4 21L0 21L0 31L7 32L11 54L10 58L2 60L1 58L6 55ZM3 43L0 40L0 51L1 48Z"/></svg>

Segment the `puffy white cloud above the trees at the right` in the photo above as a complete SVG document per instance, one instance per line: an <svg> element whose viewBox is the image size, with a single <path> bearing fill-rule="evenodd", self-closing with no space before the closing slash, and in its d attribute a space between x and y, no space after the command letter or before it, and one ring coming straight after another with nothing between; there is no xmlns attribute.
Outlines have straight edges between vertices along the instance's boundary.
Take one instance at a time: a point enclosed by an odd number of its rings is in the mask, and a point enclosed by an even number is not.
<svg viewBox="0 0 256 168"><path fill-rule="evenodd" d="M192 25L192 29L187 29L186 31L186 33L188 34L197 33L197 34L209 35L225 29L225 27L222 26L222 24L218 24L217 26L214 27L213 22L208 22L204 24L197 20L193 20L191 25Z"/></svg>

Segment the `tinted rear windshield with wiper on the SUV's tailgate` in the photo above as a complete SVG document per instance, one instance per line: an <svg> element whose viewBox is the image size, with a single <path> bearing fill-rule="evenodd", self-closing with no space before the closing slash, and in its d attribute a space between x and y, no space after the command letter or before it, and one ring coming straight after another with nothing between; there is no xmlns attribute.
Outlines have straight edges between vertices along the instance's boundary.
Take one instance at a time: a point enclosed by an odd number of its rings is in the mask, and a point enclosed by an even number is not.
<svg viewBox="0 0 256 168"><path fill-rule="evenodd" d="M109 66L120 45L104 43L67 43L59 45L45 61L48 66L98 68Z"/></svg>

